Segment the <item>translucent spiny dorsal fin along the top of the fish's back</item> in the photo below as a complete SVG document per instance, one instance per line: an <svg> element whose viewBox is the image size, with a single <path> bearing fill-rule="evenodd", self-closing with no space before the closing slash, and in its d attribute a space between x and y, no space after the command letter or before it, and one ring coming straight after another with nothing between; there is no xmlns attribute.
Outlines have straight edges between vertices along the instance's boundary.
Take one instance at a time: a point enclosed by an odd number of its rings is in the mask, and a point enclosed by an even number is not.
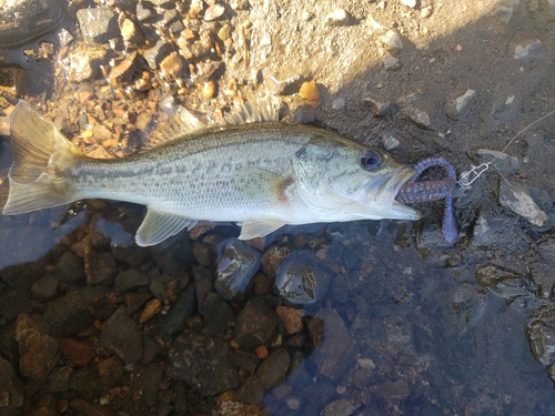
<svg viewBox="0 0 555 416"><path fill-rule="evenodd" d="M140 146L139 152L147 152L175 138L198 133L206 129L222 129L231 124L263 123L279 121L279 102L273 98L250 98L249 102L238 103L224 115L224 122L202 121L184 106L178 106L173 115L160 125Z"/></svg>

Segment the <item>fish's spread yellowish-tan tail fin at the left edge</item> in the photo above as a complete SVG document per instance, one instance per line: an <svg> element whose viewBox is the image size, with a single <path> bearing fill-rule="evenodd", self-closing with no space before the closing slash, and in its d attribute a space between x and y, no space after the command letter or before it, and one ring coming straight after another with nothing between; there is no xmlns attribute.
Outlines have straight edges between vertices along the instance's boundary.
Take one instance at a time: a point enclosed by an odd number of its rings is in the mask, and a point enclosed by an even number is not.
<svg viewBox="0 0 555 416"><path fill-rule="evenodd" d="M22 100L11 113L10 135L13 163L0 192L1 213L22 214L73 201L63 174L82 152Z"/></svg>

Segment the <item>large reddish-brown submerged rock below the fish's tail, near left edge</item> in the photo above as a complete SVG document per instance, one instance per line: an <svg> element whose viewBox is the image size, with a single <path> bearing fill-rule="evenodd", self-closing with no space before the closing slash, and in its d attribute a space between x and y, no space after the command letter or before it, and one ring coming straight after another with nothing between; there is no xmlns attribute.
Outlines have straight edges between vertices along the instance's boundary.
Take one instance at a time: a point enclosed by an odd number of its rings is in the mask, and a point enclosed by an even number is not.
<svg viewBox="0 0 555 416"><path fill-rule="evenodd" d="M19 344L19 369L26 377L42 383L60 359L59 344L43 335L28 314L16 321L16 341Z"/></svg>

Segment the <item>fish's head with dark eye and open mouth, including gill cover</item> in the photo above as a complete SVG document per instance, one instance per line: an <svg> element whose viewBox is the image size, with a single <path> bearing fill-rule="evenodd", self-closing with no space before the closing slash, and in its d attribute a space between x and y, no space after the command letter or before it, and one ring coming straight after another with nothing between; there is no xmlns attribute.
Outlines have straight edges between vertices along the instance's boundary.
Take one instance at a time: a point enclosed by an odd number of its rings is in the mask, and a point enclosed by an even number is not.
<svg viewBox="0 0 555 416"><path fill-rule="evenodd" d="M314 135L292 166L305 203L327 215L327 221L418 220L418 211L395 196L415 174L386 152L335 135Z"/></svg>

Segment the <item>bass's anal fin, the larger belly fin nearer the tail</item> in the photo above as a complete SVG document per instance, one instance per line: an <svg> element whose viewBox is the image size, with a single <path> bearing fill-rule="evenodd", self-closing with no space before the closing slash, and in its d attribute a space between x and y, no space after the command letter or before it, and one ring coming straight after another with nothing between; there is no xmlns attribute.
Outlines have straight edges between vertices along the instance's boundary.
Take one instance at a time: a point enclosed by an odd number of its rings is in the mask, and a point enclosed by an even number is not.
<svg viewBox="0 0 555 416"><path fill-rule="evenodd" d="M196 220L158 212L149 207L147 216L144 216L141 226L137 231L135 241L141 247L155 245L178 234L185 227L191 230L194 224L196 224Z"/></svg>

